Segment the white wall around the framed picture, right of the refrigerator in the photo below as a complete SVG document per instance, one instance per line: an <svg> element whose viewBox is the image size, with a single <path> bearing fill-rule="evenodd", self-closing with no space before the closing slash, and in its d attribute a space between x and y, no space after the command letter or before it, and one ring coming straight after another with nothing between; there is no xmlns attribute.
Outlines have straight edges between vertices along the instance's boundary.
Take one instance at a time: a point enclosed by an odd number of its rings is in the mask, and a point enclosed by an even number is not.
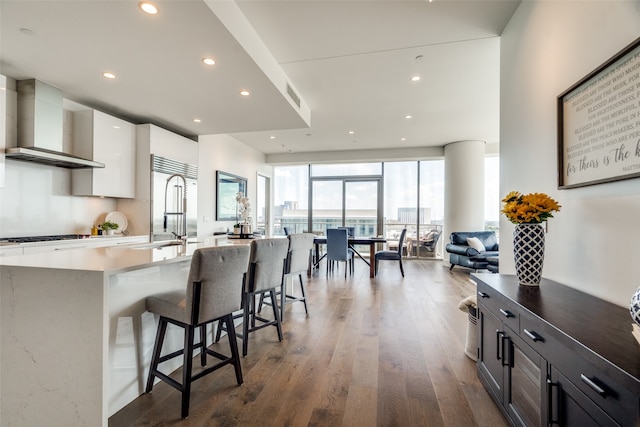
<svg viewBox="0 0 640 427"><path fill-rule="evenodd" d="M258 173L273 177L273 167L265 164L264 154L229 135L201 136L198 146L198 237L203 237L216 231L227 231L234 223L215 220L216 171L221 170L247 178L247 195L255 209ZM255 216L254 212L254 226Z"/></svg>

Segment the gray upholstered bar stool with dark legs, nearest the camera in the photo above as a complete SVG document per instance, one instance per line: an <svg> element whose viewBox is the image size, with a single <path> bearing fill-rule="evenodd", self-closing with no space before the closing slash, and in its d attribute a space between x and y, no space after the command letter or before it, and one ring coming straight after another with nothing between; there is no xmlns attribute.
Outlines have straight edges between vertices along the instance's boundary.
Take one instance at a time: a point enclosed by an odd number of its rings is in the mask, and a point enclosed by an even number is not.
<svg viewBox="0 0 640 427"><path fill-rule="evenodd" d="M242 286L250 249L248 246L226 246L197 249L191 259L187 288L180 291L164 292L147 297L147 311L158 314L158 332L153 348L146 392L150 393L154 379L160 378L182 393L182 418L189 415L189 397L191 383L225 365L232 364L236 372L238 385L242 384L242 368L238 354L233 312L241 307ZM210 350L206 345L206 325L219 320L225 323L229 331L231 356L225 356ZM165 356L160 356L167 325L184 328L184 348ZM194 343L195 330L200 328L200 341ZM220 362L197 374L192 374L193 350L200 348L200 363L207 364L207 354ZM174 357L183 355L182 383L158 370L158 365Z"/></svg>

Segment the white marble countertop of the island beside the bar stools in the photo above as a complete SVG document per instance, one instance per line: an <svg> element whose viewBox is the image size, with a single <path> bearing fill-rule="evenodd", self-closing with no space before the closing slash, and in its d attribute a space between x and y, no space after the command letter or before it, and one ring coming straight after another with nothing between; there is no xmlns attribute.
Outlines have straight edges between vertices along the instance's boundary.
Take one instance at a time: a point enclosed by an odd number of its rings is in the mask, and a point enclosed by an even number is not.
<svg viewBox="0 0 640 427"><path fill-rule="evenodd" d="M80 248L0 258L0 266L50 268L76 271L103 271L114 274L158 264L190 260L202 247L247 245L251 240L207 239L186 246L153 247L160 242L102 248Z"/></svg>

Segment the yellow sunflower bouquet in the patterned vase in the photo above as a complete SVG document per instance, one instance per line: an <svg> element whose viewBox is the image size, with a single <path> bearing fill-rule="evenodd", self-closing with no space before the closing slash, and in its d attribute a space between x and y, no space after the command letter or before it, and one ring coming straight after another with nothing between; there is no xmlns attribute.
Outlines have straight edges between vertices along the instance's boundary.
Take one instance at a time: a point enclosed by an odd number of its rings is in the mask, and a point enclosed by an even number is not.
<svg viewBox="0 0 640 427"><path fill-rule="evenodd" d="M560 212L558 202L544 193L520 194L512 191L502 199L502 213L514 224L540 224Z"/></svg>

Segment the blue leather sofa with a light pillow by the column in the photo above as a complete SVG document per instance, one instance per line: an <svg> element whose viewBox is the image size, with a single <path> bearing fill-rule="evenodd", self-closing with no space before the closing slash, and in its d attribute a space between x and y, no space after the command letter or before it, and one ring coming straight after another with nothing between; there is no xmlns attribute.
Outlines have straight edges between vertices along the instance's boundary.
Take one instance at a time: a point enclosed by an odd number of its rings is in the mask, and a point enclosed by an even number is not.
<svg viewBox="0 0 640 427"><path fill-rule="evenodd" d="M484 245L485 251L481 252L467 244L467 238L477 237ZM454 266L471 268L473 270L487 270L488 258L498 257L498 239L495 231L456 231L449 236L450 243L446 246L449 253L449 262L452 270ZM497 263L496 263L497 264ZM492 266L491 271L494 271ZM495 271L497 272L497 265Z"/></svg>

